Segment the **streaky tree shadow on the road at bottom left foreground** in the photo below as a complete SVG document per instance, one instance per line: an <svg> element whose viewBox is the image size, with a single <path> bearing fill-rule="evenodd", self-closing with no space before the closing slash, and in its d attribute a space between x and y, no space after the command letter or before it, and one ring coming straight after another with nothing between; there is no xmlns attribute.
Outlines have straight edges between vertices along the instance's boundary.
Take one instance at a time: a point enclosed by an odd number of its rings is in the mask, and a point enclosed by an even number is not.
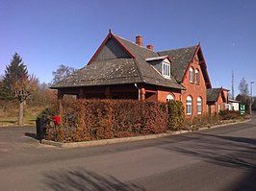
<svg viewBox="0 0 256 191"><path fill-rule="evenodd" d="M141 186L124 183L112 176L100 176L85 169L64 170L45 175L45 190L104 190L104 191L144 191Z"/></svg>

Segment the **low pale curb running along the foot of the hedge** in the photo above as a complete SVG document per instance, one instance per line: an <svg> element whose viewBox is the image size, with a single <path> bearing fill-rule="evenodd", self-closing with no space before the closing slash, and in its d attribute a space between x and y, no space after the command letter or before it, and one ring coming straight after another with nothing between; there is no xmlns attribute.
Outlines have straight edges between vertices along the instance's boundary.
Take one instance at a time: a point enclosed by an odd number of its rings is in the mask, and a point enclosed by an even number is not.
<svg viewBox="0 0 256 191"><path fill-rule="evenodd" d="M249 120L239 121L239 122L233 122L229 124L220 124L216 126L212 126L210 128L200 128L197 131L204 131L209 129L216 129L221 128L225 126L231 126L236 125L240 123L248 122ZM155 139L155 138L161 138L166 137L170 135L178 135L183 133L189 133L194 132L192 130L181 130L181 131L170 131L162 134L150 134L150 135L144 135L144 136L134 136L134 137L124 137L124 138L113 138L113 139L101 139L101 140L91 140L91 141L84 141L84 142L74 142L74 143L62 143L62 142L55 142L51 140L41 140L41 144L44 145L50 145L60 148L77 148L77 147L86 147L86 146L97 146L97 145L108 145L108 144L114 144L114 143L123 143L123 142L132 142L132 141L139 141L139 140L149 140L149 139Z"/></svg>

